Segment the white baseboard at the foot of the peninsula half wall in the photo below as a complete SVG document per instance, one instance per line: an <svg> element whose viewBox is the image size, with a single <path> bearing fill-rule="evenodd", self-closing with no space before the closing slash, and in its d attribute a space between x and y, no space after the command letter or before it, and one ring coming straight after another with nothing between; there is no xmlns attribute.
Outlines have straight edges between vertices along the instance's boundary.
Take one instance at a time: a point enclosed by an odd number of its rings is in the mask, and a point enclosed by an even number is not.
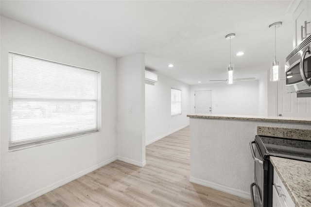
<svg viewBox="0 0 311 207"><path fill-rule="evenodd" d="M236 196L239 196L241 198L245 198L245 199L248 199L248 200L251 199L251 194L249 192L233 189L233 188L230 188L230 187L227 187L227 186L223 186L223 185L220 185L220 184L217 184L217 183L209 182L207 180L202 180L202 179L199 179L199 178L196 178L196 177L191 177L191 176L190 176L189 181L191 183L199 184L201 186L205 186L205 187L208 187L208 188L211 188L211 189L215 189L215 190L220 190L222 192L226 192L226 193L229 193L231 195L236 195Z"/></svg>

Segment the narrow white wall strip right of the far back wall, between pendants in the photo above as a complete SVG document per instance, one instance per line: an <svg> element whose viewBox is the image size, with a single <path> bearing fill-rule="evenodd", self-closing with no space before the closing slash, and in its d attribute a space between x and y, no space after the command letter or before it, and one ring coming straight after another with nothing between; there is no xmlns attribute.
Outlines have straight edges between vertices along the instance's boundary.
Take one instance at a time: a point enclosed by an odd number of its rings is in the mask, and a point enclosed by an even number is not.
<svg viewBox="0 0 311 207"><path fill-rule="evenodd" d="M259 116L268 116L268 78L265 71L258 80L258 107Z"/></svg>

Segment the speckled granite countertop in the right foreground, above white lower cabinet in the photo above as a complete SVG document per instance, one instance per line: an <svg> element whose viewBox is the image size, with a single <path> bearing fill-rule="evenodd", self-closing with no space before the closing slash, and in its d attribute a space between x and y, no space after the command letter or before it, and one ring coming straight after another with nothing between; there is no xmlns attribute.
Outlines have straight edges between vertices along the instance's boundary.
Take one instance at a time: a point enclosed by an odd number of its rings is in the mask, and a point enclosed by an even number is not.
<svg viewBox="0 0 311 207"><path fill-rule="evenodd" d="M270 156L296 207L311 207L311 162Z"/></svg>

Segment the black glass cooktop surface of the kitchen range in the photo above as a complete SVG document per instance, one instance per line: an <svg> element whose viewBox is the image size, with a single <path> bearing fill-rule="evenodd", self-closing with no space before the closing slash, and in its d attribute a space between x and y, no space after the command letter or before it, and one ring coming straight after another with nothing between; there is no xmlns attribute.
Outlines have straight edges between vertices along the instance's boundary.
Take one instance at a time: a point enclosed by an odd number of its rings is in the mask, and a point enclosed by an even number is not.
<svg viewBox="0 0 311 207"><path fill-rule="evenodd" d="M258 139L257 143L264 149L264 151L261 151L265 152L264 157L272 155L311 162L311 141L265 136L256 137Z"/></svg>

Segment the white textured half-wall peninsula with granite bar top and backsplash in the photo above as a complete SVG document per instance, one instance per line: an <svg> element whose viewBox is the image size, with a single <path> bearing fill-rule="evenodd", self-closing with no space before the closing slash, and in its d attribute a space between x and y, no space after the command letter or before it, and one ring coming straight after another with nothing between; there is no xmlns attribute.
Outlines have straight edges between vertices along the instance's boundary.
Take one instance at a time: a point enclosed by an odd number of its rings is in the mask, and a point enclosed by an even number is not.
<svg viewBox="0 0 311 207"><path fill-rule="evenodd" d="M250 199L256 135L311 140L311 118L188 115L190 182Z"/></svg>

